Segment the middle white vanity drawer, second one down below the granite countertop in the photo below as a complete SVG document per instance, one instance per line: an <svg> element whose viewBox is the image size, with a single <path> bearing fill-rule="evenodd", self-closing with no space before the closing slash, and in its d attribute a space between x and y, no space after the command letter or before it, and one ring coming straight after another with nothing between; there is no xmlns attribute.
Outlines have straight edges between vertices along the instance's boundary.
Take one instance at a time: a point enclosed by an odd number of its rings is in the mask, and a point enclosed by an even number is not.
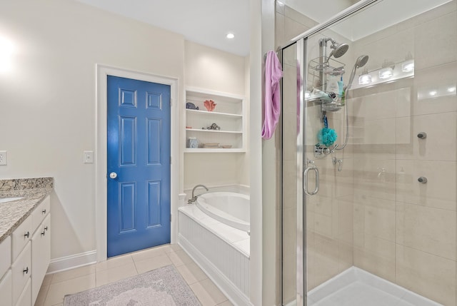
<svg viewBox="0 0 457 306"><path fill-rule="evenodd" d="M27 243L24 250L19 254L16 261L11 265L13 280L13 305L16 305L19 295L24 290L26 282L31 275L31 243ZM30 299L30 295L29 295Z"/></svg>

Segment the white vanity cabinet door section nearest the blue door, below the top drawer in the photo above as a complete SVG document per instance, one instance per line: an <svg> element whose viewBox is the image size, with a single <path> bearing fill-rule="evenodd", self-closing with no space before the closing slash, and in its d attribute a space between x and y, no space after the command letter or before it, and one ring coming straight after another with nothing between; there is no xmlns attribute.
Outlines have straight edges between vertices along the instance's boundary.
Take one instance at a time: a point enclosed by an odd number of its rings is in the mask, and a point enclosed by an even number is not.
<svg viewBox="0 0 457 306"><path fill-rule="evenodd" d="M31 238L31 302L34 304L40 291L44 275L48 270L51 258L51 214L48 214L43 223Z"/></svg>

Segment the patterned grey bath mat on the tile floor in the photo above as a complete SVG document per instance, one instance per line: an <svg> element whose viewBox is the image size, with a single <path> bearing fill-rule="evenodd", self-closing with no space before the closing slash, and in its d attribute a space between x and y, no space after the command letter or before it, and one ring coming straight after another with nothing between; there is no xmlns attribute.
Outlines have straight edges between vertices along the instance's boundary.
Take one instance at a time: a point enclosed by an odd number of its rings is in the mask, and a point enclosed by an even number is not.
<svg viewBox="0 0 457 306"><path fill-rule="evenodd" d="M200 306L194 292L167 265L74 295L66 295L64 306Z"/></svg>

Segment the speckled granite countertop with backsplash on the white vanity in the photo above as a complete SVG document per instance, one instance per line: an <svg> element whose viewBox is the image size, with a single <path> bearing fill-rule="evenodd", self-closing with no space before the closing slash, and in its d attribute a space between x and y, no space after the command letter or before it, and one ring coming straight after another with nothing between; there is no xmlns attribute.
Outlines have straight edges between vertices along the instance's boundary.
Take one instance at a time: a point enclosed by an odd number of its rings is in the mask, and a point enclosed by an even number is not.
<svg viewBox="0 0 457 306"><path fill-rule="evenodd" d="M0 203L0 243L24 221L54 188L53 178L0 180L0 198L23 197Z"/></svg>

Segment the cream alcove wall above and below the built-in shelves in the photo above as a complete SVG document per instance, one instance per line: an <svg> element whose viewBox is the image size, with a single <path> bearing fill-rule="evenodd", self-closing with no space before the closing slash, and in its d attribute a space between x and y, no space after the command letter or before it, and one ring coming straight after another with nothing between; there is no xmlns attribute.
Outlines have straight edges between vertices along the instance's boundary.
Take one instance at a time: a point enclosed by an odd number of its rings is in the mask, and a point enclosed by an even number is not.
<svg viewBox="0 0 457 306"><path fill-rule="evenodd" d="M191 41L186 41L185 49L186 86L246 96L243 56ZM248 104L247 96L245 101ZM248 185L246 164L246 153L185 153L184 189L197 184L209 188L241 183Z"/></svg>

